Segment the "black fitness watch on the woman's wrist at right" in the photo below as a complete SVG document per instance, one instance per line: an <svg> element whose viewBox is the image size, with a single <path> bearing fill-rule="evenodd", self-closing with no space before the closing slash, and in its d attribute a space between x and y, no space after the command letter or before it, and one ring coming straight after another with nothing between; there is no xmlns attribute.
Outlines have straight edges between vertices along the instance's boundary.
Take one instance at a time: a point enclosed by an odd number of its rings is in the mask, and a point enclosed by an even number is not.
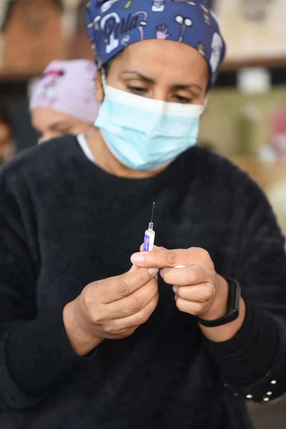
<svg viewBox="0 0 286 429"><path fill-rule="evenodd" d="M203 320L200 317L196 317L196 320L201 325L214 328L216 326L226 325L227 323L230 323L238 318L241 298L241 286L236 280L226 278L226 281L229 284L229 296L227 299L226 315L216 320Z"/></svg>

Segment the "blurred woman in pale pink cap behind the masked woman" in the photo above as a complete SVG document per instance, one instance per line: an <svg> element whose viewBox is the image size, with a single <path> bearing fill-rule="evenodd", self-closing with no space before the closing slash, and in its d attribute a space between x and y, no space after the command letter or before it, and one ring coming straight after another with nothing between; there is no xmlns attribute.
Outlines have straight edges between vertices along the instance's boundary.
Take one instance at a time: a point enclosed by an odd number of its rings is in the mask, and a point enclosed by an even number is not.
<svg viewBox="0 0 286 429"><path fill-rule="evenodd" d="M92 61L53 61L33 88L33 126L46 141L66 133L85 134L98 115L94 95L96 66Z"/></svg>

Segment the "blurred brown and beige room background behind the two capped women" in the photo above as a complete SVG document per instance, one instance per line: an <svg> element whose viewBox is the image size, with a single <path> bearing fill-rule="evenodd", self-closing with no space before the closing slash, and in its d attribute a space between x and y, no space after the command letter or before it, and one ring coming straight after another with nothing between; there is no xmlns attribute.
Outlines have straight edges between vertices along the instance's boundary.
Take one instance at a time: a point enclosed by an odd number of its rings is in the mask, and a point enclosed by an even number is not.
<svg viewBox="0 0 286 429"><path fill-rule="evenodd" d="M127 0L126 0L127 2ZM286 234L286 1L210 2L228 51L199 144L237 163L265 190ZM0 161L37 144L29 94L52 60L93 59L87 0L0 0ZM250 404L257 429L284 429L286 400Z"/></svg>

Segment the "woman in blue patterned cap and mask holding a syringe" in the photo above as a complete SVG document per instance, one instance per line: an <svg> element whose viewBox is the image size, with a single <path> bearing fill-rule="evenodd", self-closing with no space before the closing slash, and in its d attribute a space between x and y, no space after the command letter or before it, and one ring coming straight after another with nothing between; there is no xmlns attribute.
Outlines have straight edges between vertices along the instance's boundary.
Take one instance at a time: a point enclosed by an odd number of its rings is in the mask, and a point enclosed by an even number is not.
<svg viewBox="0 0 286 429"><path fill-rule="evenodd" d="M91 0L87 30L95 127L1 174L0 427L251 428L245 400L286 391L286 255L259 187L196 146L216 18Z"/></svg>

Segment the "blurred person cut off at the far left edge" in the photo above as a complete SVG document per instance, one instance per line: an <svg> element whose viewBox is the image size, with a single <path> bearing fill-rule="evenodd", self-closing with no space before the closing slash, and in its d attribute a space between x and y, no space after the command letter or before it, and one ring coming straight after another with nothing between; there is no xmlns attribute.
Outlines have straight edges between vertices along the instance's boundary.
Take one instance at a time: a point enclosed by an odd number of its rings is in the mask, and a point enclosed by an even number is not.
<svg viewBox="0 0 286 429"><path fill-rule="evenodd" d="M15 142L12 138L12 122L6 109L0 104L0 165L11 160L15 154Z"/></svg>

